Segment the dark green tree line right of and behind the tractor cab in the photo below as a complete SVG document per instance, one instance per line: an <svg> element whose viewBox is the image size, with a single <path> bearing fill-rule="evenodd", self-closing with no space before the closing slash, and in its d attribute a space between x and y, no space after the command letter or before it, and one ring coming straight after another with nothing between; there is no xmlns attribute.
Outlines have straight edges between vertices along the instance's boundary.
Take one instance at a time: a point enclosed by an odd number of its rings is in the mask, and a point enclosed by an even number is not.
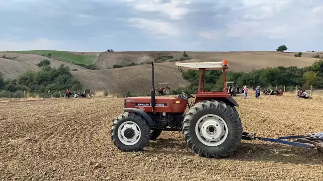
<svg viewBox="0 0 323 181"><path fill-rule="evenodd" d="M185 91L196 93L198 88L199 71L187 70L182 72L182 78L191 84L186 88L173 90L174 94ZM316 60L312 66L298 68L271 67L253 70L248 73L227 71L226 81L235 82L236 87L256 87L278 85L286 87L310 87L311 85L323 88L323 59ZM212 70L205 72L205 90L222 91L224 89L222 71Z"/></svg>

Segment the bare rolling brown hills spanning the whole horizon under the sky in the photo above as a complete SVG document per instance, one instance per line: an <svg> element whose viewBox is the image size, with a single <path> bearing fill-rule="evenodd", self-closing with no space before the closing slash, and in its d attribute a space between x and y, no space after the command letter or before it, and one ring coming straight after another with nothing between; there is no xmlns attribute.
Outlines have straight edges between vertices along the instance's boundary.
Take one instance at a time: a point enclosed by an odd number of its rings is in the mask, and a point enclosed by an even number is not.
<svg viewBox="0 0 323 181"><path fill-rule="evenodd" d="M112 93L123 93L130 90L134 93L149 92L151 89L151 64L136 65L131 67L111 69L113 65L127 65L154 61L159 56L172 56L179 59L183 52L63 52L63 51L18 51L19 53L0 52L0 57L12 57L13 60L0 58L0 72L8 78L16 78L26 69L36 70L36 64L42 59L50 60L54 67L60 64L77 69L71 73L81 82L85 89L109 90ZM23 52L23 53L21 53ZM51 52L52 58L35 54ZM28 54L31 53L31 54ZM56 54L57 53L57 54ZM322 52L303 52L302 57L295 57L293 52L276 51L248 51L248 52L186 52L187 62L212 62L228 60L229 70L249 72L253 69L262 69L277 66L311 66L316 60L313 55ZM97 60L95 61L95 57ZM57 59L57 60L55 60ZM61 61L59 61L61 60ZM101 70L89 70L66 62L95 63ZM185 62L185 61L184 61ZM110 68L110 69L108 69ZM168 82L173 89L186 86L189 83L182 80L175 62L155 64L155 84Z"/></svg>

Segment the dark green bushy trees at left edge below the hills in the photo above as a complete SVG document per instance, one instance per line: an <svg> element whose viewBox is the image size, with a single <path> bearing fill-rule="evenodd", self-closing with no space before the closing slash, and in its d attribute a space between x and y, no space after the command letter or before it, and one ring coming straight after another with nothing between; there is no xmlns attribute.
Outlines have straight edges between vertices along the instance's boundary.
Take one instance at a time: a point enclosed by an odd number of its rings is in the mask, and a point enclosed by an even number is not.
<svg viewBox="0 0 323 181"><path fill-rule="evenodd" d="M38 93L41 97L58 94L66 89L80 90L81 84L77 81L68 66L60 65L58 68L50 66L48 60L40 61L37 71L27 70L17 79L4 79L0 72L0 96L1 97L23 97L24 91ZM65 93L62 92L62 93Z"/></svg>

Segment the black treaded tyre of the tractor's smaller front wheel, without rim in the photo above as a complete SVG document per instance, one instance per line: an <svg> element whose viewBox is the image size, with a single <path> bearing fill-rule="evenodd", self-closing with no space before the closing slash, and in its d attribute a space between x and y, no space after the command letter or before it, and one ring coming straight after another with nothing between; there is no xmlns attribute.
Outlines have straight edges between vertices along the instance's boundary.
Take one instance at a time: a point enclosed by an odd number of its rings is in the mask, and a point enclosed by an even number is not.
<svg viewBox="0 0 323 181"><path fill-rule="evenodd" d="M118 129L123 122L132 121L135 122L139 129L141 130L141 135L139 141L134 145L126 145L120 141L118 136ZM151 128L148 122L142 117L140 114L134 112L125 112L118 116L117 119L114 120L112 128L111 128L111 139L114 145L121 151L125 152L137 152L141 151L149 144L149 139L151 137Z"/></svg>

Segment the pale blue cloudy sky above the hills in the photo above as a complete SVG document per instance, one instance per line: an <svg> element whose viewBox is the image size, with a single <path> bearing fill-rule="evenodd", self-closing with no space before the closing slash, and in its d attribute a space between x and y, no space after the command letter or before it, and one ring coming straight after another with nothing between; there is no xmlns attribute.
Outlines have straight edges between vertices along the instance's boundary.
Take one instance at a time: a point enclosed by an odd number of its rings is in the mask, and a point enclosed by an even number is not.
<svg viewBox="0 0 323 181"><path fill-rule="evenodd" d="M0 51L322 51L323 0L0 0Z"/></svg>

